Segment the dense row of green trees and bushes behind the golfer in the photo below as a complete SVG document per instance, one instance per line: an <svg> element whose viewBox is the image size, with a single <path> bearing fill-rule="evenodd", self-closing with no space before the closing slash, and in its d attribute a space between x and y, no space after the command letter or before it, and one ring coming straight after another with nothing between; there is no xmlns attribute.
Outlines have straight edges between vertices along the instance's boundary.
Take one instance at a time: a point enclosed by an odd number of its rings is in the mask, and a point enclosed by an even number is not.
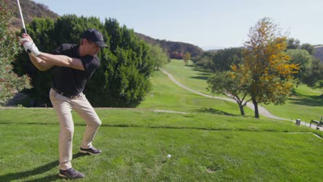
<svg viewBox="0 0 323 182"><path fill-rule="evenodd" d="M23 89L35 105L50 105L48 91L52 86L52 70L41 72L32 65L18 38L10 32L12 14L3 3L0 5L0 105L6 104ZM139 105L150 90L149 77L154 68L169 61L166 52L158 45L148 45L133 30L119 26L115 19L106 19L102 23L95 17L76 15L66 15L55 21L35 18L28 24L27 32L39 50L52 52L61 43L79 43L81 33L88 28L100 30L110 48L99 52L101 66L88 81L84 93L96 107Z"/></svg>

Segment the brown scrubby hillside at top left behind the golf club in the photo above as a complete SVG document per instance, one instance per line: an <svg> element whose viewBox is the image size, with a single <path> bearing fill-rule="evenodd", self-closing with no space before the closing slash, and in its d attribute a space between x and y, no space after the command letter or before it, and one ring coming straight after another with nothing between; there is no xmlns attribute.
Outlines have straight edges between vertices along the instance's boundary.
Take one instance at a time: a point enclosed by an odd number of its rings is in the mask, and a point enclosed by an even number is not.
<svg viewBox="0 0 323 182"><path fill-rule="evenodd" d="M21 10L23 12L23 20L25 24L30 23L34 17L49 17L51 19L57 19L58 14L49 10L48 6L42 3L35 3L30 0L19 1ZM22 23L20 19L19 9L16 0L4 0L6 6L12 10L14 17L10 20L11 28L14 30L19 30L22 28Z"/></svg>

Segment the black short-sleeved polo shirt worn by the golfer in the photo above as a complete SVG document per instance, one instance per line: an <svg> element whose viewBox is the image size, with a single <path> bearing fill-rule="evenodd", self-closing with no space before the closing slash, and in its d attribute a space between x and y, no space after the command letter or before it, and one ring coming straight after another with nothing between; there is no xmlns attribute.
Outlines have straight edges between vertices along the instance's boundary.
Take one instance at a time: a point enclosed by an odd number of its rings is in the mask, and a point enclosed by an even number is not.
<svg viewBox="0 0 323 182"><path fill-rule="evenodd" d="M81 59L84 71L74 68L55 66L53 87L67 96L76 96L83 92L86 82L93 72L99 67L98 57L79 56L79 45L64 43L56 48L52 54L61 54L68 57Z"/></svg>

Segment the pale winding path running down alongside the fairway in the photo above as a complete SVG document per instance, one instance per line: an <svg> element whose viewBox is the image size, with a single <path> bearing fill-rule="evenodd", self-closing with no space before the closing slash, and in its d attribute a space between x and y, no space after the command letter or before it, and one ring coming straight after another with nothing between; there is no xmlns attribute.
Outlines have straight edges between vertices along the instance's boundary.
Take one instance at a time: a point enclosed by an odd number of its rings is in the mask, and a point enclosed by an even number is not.
<svg viewBox="0 0 323 182"><path fill-rule="evenodd" d="M161 69L161 72L164 72L164 74L166 74L171 81L173 81L174 83L176 83L177 85L179 85L181 88L184 88L185 90L188 90L188 91L193 92L195 94L199 94L199 95L201 95L203 97L210 97L210 98L213 98L213 99L222 99L222 100L225 100L225 101L231 101L231 102L236 103L236 101L234 99L224 98L224 97L214 97L212 95L203 94L201 92L197 92L196 90L192 90L192 89L186 87L185 85L182 85L182 83L179 83L173 77L173 75L170 74L170 73L168 73L168 72L166 72L166 70ZM253 106L253 103L246 103L246 106L248 108L251 108L252 110L255 110L255 108ZM289 119L284 119L284 118L276 117L275 115L271 114L270 112L268 112L268 110L266 110L264 107L262 107L260 105L258 105L258 110L259 110L259 114L261 114L264 117L268 117L268 118L272 118L272 119L281 119L281 120L290 121ZM293 121L293 122L295 122L295 121ZM301 122L301 125L306 125L306 126L310 127L310 124L309 123L305 123L305 122ZM311 125L311 128L316 129L315 125ZM323 130L323 128L321 127L320 130Z"/></svg>

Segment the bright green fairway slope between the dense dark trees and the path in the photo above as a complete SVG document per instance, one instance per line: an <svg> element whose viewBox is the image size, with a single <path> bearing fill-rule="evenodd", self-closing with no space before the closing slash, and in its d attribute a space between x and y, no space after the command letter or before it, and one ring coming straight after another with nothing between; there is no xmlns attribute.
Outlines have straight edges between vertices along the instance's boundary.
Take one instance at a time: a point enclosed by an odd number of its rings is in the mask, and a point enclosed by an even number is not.
<svg viewBox="0 0 323 182"><path fill-rule="evenodd" d="M155 72L151 78L153 90L138 108L175 110L182 112L209 112L226 115L239 115L237 103L199 96L184 90L170 81L166 74ZM253 116L253 110L245 108L246 116Z"/></svg>

